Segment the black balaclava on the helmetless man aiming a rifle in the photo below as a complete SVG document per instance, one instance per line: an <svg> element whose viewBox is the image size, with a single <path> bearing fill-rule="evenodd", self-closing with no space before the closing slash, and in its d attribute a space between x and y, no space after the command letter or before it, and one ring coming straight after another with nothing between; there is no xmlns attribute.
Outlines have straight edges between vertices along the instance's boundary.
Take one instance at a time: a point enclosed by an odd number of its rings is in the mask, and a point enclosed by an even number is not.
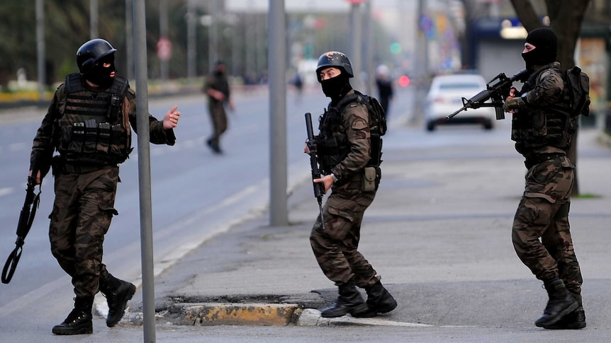
<svg viewBox="0 0 611 343"><path fill-rule="evenodd" d="M532 71L533 66L544 66L556 61L558 53L558 37L549 28L537 28L528 34L526 42L534 45L534 49L523 52L526 69Z"/></svg>

